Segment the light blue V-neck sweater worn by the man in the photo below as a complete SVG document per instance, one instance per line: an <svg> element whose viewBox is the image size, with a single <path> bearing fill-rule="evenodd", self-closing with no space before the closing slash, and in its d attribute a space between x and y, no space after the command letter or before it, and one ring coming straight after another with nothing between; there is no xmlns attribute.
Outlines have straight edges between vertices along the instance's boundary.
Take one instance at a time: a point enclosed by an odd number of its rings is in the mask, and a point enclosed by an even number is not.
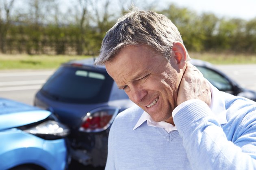
<svg viewBox="0 0 256 170"><path fill-rule="evenodd" d="M106 170L255 170L256 103L230 94L228 123L219 125L210 108L195 100L174 116L169 134L145 121L133 127L138 106L117 115L108 138Z"/></svg>

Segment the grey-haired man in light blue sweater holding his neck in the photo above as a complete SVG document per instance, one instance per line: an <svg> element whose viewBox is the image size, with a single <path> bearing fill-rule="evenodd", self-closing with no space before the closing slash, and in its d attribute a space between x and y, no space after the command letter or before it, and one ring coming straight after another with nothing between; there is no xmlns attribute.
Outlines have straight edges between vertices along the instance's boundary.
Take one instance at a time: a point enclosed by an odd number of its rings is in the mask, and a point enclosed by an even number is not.
<svg viewBox="0 0 256 170"><path fill-rule="evenodd" d="M256 169L256 103L204 79L164 15L121 17L95 64L138 105L113 122L106 170Z"/></svg>

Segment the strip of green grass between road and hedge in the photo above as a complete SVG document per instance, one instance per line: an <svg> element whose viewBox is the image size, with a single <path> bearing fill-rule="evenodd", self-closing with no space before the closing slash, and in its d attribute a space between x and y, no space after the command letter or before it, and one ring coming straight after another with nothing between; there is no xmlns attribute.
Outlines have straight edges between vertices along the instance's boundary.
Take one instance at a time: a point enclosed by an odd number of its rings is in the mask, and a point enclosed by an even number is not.
<svg viewBox="0 0 256 170"><path fill-rule="evenodd" d="M256 55L230 53L189 53L191 58L212 64L256 64ZM70 60L80 60L90 56L69 55L3 55L0 54L0 70L10 69L56 69Z"/></svg>

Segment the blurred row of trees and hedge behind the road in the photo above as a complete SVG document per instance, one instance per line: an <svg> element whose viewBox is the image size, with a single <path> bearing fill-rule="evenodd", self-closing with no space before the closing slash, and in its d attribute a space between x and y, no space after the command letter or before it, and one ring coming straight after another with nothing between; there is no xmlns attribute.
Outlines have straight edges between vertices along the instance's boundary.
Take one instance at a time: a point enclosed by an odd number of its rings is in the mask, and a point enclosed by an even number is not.
<svg viewBox="0 0 256 170"><path fill-rule="evenodd" d="M106 31L141 4L171 19L189 51L256 53L256 17L219 18L174 4L158 8L158 0L0 0L0 53L98 55Z"/></svg>

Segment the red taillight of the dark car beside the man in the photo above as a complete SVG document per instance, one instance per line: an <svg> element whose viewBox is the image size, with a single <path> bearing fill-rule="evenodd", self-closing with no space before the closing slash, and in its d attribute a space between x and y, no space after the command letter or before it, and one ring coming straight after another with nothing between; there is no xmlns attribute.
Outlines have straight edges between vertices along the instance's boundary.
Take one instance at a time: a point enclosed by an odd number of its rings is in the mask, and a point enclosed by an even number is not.
<svg viewBox="0 0 256 170"><path fill-rule="evenodd" d="M119 108L101 107L88 112L82 119L80 131L82 132L100 132L106 130L117 115Z"/></svg>

